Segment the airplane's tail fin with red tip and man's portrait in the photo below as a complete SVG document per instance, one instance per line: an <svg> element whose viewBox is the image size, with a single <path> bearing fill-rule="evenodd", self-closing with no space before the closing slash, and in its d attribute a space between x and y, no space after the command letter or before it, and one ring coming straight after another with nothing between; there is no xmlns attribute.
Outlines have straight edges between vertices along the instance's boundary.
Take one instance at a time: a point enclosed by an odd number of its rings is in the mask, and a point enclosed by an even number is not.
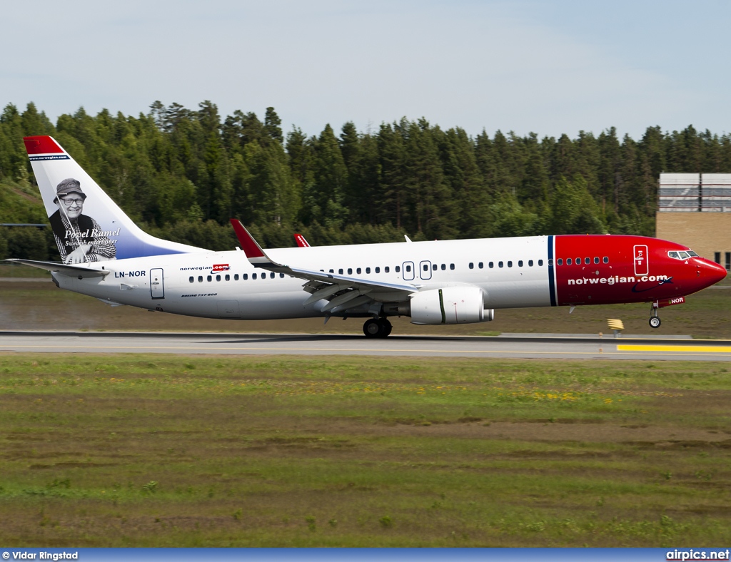
<svg viewBox="0 0 731 562"><path fill-rule="evenodd" d="M64 262L206 251L143 232L52 137L23 142Z"/></svg>

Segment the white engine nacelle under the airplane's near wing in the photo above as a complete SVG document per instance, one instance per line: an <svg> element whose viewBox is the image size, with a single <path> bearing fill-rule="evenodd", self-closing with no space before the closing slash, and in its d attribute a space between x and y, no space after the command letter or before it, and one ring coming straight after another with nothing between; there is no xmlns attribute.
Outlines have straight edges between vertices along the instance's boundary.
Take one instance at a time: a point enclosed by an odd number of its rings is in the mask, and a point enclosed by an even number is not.
<svg viewBox="0 0 731 562"><path fill-rule="evenodd" d="M485 310L479 287L459 286L421 290L411 298L412 324L469 324L489 322L495 317Z"/></svg>

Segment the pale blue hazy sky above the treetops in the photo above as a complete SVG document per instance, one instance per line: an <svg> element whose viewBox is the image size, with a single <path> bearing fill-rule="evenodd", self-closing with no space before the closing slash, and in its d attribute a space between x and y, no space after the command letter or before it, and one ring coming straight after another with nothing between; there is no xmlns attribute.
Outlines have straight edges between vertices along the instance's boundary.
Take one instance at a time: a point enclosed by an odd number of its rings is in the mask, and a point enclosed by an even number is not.
<svg viewBox="0 0 731 562"><path fill-rule="evenodd" d="M4 7L0 103L51 118L156 99L317 134L425 117L539 136L731 131L721 0L36 0Z"/></svg>

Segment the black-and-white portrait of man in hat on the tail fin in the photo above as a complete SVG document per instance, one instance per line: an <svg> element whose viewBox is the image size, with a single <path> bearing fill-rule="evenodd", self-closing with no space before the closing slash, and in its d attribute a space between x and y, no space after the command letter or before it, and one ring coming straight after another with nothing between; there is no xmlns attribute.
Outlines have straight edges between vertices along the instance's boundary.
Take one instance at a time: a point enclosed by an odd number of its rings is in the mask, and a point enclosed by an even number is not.
<svg viewBox="0 0 731 562"><path fill-rule="evenodd" d="M103 231L96 220L84 215L84 201L86 193L78 180L69 177L56 186L53 202L58 210L49 220L61 261L89 263L115 259L115 241L109 238L115 232Z"/></svg>

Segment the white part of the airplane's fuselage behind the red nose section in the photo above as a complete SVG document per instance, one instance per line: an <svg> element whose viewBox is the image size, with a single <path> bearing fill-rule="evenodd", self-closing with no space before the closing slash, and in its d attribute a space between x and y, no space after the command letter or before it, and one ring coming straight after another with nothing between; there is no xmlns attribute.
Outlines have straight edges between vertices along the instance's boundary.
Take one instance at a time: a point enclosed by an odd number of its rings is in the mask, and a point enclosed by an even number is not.
<svg viewBox="0 0 731 562"><path fill-rule="evenodd" d="M485 294L485 308L548 307L548 239L295 247L267 253L293 268L413 284L414 290L475 285ZM303 280L255 268L241 251L160 255L95 266L103 266L110 274L82 275L82 279L54 274L54 278L61 288L103 301L181 315L242 320L325 315L321 312L325 300L303 306L310 296L303 290ZM403 295L393 300L398 299Z"/></svg>

